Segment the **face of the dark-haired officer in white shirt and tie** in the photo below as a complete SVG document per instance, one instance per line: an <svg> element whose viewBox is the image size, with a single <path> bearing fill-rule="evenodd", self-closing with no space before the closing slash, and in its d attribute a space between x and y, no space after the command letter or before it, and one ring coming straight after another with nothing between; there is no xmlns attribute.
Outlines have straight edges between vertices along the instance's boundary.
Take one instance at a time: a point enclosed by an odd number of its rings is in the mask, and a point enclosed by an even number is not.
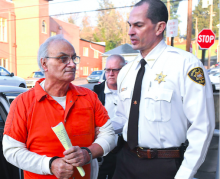
<svg viewBox="0 0 220 179"><path fill-rule="evenodd" d="M146 17L149 5L147 3L134 7L130 13L128 24L132 48L141 53L149 52L156 42L156 24Z"/></svg>

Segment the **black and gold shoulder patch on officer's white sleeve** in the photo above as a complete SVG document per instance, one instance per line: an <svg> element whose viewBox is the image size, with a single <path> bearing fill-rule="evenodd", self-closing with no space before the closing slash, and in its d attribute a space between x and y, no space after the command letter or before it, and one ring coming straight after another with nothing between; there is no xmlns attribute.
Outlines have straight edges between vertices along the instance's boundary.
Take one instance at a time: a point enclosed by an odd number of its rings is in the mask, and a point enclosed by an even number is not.
<svg viewBox="0 0 220 179"><path fill-rule="evenodd" d="M188 77L195 83L205 86L205 76L201 67L196 67L190 70L188 73Z"/></svg>

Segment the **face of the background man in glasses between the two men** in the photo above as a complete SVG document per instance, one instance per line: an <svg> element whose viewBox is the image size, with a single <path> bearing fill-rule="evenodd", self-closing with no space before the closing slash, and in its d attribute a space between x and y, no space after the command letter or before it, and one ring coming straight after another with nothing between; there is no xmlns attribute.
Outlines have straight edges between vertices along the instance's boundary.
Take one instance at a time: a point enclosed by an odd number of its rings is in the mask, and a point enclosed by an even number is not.
<svg viewBox="0 0 220 179"><path fill-rule="evenodd" d="M120 69L122 68L120 63L121 61L119 59L117 59L116 57L112 57L112 59L107 61L105 68L106 69ZM117 85L118 73L119 71L113 72L112 70L110 72L107 72L107 71L105 72L107 84L110 89L111 89L111 86Z"/></svg>

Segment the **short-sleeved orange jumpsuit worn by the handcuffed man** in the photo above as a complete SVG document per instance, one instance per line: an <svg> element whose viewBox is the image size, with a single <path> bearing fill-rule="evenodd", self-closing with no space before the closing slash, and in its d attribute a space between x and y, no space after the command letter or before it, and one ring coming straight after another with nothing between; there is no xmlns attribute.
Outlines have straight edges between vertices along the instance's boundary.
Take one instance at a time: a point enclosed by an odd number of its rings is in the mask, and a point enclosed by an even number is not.
<svg viewBox="0 0 220 179"><path fill-rule="evenodd" d="M63 157L64 148L51 129L63 122L73 146L88 147L94 142L95 127L109 119L97 95L70 83L66 108L57 103L40 86L19 95L11 104L4 134L25 143L27 149L47 157ZM90 165L83 166L85 177L74 169L75 179L90 179ZM55 179L54 175L39 175L24 171L25 179Z"/></svg>

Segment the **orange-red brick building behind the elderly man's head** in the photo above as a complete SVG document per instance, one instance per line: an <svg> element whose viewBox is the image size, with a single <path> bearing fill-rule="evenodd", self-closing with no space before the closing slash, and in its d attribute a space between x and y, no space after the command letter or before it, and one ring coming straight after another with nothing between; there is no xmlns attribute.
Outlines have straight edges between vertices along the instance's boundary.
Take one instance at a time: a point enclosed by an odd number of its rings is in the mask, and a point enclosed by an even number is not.
<svg viewBox="0 0 220 179"><path fill-rule="evenodd" d="M87 76L94 69L101 69L102 62L100 54L97 58L96 52L89 48L90 43L80 40L79 32L78 26L50 17L48 1L0 0L0 66L27 78L39 70L39 46L48 37L62 34L81 56L82 64L77 66L76 77ZM92 46L104 53L103 45L92 43ZM86 48L88 54L83 56Z"/></svg>

